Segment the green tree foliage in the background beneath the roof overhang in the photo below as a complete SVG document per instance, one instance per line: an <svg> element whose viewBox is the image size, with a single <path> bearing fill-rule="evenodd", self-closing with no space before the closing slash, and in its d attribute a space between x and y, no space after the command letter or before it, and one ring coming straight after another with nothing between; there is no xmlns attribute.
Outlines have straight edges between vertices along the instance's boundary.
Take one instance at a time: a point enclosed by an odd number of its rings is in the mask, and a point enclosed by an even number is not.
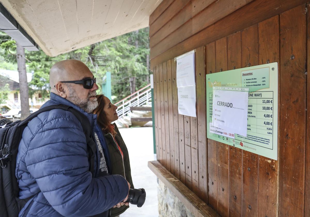
<svg viewBox="0 0 310 217"><path fill-rule="evenodd" d="M33 71L29 83L29 95L42 94L49 97L49 70L60 60L75 59L84 62L97 78L101 93L102 79L106 72L112 73L112 95L114 102L130 95L129 78L136 78L135 89L147 85L149 70L146 58L149 55L148 28L140 29L115 38L86 46L56 57L47 56L39 51L26 51L27 71ZM17 70L16 44L5 33L0 31L0 68Z"/></svg>

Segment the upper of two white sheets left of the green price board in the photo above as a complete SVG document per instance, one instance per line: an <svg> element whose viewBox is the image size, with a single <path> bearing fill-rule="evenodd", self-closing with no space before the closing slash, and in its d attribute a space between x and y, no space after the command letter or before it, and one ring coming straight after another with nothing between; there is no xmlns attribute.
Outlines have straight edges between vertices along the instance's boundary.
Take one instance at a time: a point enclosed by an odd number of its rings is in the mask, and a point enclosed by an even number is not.
<svg viewBox="0 0 310 217"><path fill-rule="evenodd" d="M192 52L177 59L176 85L177 87L195 85L195 53Z"/></svg>

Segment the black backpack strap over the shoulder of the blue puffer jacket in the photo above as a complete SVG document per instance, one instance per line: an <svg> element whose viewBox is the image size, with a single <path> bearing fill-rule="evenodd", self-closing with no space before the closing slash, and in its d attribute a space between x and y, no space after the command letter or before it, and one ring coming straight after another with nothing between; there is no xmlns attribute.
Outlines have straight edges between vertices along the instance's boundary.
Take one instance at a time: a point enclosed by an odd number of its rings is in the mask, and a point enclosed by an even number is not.
<svg viewBox="0 0 310 217"><path fill-rule="evenodd" d="M38 111L32 113L29 115L26 119L19 122L19 126L28 124L29 121L31 121L34 117L37 117L40 113L50 111L55 108L60 108L66 111L69 111L74 114L75 117L78 118L78 121L81 123L83 132L86 137L86 144L87 144L87 152L88 152L88 161L89 161L89 170L91 171L91 174L94 175L94 162L95 162L95 153L96 153L96 144L94 140L92 139L91 135L91 124L87 117L79 112L78 110L74 109L72 106L64 105L64 104L57 104L57 105L49 105L47 107L41 108Z"/></svg>

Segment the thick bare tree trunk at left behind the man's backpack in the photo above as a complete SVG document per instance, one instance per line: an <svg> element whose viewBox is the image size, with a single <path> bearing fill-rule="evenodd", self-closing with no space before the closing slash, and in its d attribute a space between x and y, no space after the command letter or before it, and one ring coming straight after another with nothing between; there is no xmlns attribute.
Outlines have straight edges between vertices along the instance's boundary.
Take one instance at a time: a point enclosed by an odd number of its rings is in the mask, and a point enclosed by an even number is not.
<svg viewBox="0 0 310 217"><path fill-rule="evenodd" d="M20 119L24 120L29 116L29 90L26 73L25 63L25 50L24 47L16 42L16 58L17 58L17 70L19 75L19 86L20 86L20 108L21 115Z"/></svg>

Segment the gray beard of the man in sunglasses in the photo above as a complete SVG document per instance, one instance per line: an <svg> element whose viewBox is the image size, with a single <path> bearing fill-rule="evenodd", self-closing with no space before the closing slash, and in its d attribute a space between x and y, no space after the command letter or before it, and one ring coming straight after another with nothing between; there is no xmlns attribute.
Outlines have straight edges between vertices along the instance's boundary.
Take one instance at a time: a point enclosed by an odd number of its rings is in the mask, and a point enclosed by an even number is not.
<svg viewBox="0 0 310 217"><path fill-rule="evenodd" d="M73 89L71 84L67 84L67 87L69 89L69 96L67 97L67 100L69 100L73 104L77 105L78 107L82 108L87 113L92 113L92 111L95 108L97 108L97 106L98 106L97 99L96 98L91 99L91 100L89 99L90 97L96 95L96 91L91 91L87 95L86 99L80 99L77 96L76 91Z"/></svg>

